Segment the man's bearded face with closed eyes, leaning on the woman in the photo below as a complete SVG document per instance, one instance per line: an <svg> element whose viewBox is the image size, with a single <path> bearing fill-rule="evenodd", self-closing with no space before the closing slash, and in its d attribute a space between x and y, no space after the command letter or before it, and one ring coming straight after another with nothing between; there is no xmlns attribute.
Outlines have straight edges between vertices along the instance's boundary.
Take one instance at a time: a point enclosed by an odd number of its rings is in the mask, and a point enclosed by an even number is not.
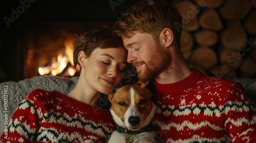
<svg viewBox="0 0 256 143"><path fill-rule="evenodd" d="M142 81L157 77L170 63L170 56L151 34L135 32L132 37L123 38L123 44L128 51L127 62L136 67Z"/></svg>

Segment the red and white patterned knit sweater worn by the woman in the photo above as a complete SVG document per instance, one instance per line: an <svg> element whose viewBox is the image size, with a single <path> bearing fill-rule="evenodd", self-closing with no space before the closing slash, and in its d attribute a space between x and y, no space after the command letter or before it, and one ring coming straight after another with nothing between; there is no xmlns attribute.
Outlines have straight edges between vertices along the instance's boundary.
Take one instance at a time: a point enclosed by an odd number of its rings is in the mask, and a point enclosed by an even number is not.
<svg viewBox="0 0 256 143"><path fill-rule="evenodd" d="M104 142L116 129L109 110L58 91L33 90L14 112L1 142Z"/></svg>

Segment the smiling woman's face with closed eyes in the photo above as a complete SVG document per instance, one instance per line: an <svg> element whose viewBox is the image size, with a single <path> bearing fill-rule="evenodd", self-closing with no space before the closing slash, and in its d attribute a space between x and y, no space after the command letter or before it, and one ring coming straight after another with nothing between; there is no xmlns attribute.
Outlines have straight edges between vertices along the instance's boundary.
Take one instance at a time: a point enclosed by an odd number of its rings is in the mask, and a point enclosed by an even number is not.
<svg viewBox="0 0 256 143"><path fill-rule="evenodd" d="M123 47L96 48L84 63L88 86L104 94L112 92L122 79L127 53Z"/></svg>

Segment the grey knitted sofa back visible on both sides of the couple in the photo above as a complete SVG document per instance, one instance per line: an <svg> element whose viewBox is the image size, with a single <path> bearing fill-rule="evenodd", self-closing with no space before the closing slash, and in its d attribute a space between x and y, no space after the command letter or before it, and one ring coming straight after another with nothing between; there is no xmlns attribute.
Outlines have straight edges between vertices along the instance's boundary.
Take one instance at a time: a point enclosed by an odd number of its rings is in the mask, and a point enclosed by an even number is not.
<svg viewBox="0 0 256 143"><path fill-rule="evenodd" d="M67 79L52 76L38 76L31 79L22 80L19 82L4 82L0 83L0 99L1 99L1 116L0 116L0 133L3 132L6 126L5 121L10 121L13 112L18 104L29 94L30 91L41 88L48 91L58 90L63 94L69 93L76 85L78 77ZM251 95L252 99L256 101L256 79L235 79L240 82L246 91ZM4 98L7 98L7 102ZM5 104L6 103L6 104Z"/></svg>

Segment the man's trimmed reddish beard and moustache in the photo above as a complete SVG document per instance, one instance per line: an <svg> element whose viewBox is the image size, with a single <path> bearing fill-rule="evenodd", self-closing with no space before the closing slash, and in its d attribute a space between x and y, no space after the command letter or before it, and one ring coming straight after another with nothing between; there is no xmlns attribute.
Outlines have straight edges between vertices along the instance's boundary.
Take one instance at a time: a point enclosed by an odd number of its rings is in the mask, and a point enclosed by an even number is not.
<svg viewBox="0 0 256 143"><path fill-rule="evenodd" d="M142 81L148 81L157 77L166 70L170 64L170 55L163 51L163 47L156 42L156 50L148 61L135 62L135 65L144 64L145 68L138 72L138 78Z"/></svg>

